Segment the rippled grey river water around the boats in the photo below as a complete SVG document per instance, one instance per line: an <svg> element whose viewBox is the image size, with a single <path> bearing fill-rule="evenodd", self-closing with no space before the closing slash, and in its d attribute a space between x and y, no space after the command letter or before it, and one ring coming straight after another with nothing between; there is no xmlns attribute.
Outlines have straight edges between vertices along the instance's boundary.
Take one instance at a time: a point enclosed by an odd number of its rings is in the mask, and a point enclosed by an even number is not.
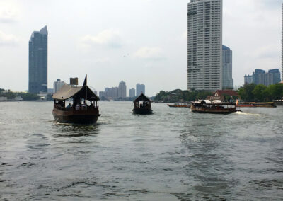
<svg viewBox="0 0 283 201"><path fill-rule="evenodd" d="M282 200L283 107L132 107L100 102L83 126L52 102L0 103L0 200Z"/></svg>

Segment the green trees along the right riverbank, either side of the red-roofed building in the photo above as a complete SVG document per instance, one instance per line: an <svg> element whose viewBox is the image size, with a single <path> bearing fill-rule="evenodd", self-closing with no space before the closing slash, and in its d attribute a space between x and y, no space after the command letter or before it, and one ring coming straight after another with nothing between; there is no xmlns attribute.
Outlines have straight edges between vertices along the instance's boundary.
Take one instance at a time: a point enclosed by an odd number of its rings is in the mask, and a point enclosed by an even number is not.
<svg viewBox="0 0 283 201"><path fill-rule="evenodd" d="M265 86L263 84L246 84L238 88L236 92L238 93L238 98L241 98L242 101L273 101L283 97L283 84L272 84L270 86ZM166 103L189 102L202 100L207 98L207 96L213 96L213 94L213 92L208 91L182 91L176 89L173 91L160 91L156 94L154 101ZM226 99L228 100L229 98Z"/></svg>

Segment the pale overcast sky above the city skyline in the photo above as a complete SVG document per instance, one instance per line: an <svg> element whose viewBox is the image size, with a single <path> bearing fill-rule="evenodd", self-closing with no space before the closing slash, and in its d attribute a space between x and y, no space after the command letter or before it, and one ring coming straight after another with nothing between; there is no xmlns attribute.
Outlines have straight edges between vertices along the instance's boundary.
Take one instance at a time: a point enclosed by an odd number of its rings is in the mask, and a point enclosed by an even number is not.
<svg viewBox="0 0 283 201"><path fill-rule="evenodd" d="M47 25L48 88L88 74L97 91L145 84L146 95L187 86L189 0L0 0L0 88L28 89L28 40ZM223 0L223 45L235 86L254 69L281 71L282 1Z"/></svg>

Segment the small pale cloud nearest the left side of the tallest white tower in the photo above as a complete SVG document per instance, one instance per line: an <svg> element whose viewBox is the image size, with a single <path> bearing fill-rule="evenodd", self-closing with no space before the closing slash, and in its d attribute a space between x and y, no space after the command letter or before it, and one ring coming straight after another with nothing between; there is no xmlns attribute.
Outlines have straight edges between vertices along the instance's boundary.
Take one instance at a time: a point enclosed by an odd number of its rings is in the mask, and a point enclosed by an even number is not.
<svg viewBox="0 0 283 201"><path fill-rule="evenodd" d="M165 57L163 57L163 51L160 47L141 47L139 50L137 50L137 52L134 53L134 56L149 60L165 59Z"/></svg>

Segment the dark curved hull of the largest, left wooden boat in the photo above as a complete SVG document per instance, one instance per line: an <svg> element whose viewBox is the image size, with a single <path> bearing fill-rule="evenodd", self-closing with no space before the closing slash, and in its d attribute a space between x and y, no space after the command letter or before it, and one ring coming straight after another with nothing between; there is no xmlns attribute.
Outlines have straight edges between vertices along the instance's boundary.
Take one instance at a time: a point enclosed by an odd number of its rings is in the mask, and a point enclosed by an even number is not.
<svg viewBox="0 0 283 201"><path fill-rule="evenodd" d="M95 124L100 116L98 110L63 111L57 108L54 108L52 114L56 122L72 124Z"/></svg>

